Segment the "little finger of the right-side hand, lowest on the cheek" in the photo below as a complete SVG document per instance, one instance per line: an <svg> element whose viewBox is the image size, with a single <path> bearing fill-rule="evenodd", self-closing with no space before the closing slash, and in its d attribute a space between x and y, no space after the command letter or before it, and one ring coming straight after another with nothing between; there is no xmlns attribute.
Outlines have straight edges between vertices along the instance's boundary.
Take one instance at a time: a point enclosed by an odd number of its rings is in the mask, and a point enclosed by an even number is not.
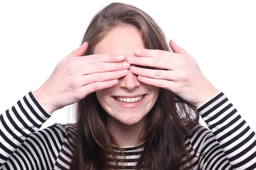
<svg viewBox="0 0 256 170"><path fill-rule="evenodd" d="M165 80L165 79L152 79L152 78L148 78L148 77L138 76L138 80L145 84L153 85L153 86L160 87L160 88L165 88L170 91L172 91L172 89L174 89L174 85L175 85L174 84L175 82Z"/></svg>

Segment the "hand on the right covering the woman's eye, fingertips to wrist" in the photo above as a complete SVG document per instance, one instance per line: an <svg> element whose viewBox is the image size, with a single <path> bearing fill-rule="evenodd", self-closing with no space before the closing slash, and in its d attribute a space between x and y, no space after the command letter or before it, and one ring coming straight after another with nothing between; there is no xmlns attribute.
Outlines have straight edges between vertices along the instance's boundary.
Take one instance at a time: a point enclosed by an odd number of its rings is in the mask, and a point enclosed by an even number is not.
<svg viewBox="0 0 256 170"><path fill-rule="evenodd" d="M204 77L193 57L172 40L169 45L173 53L145 48L136 50L136 57L128 57L127 60L132 65L131 73L137 74L140 82L166 88L192 105L201 106L217 94L218 90ZM134 65L166 70L140 68Z"/></svg>

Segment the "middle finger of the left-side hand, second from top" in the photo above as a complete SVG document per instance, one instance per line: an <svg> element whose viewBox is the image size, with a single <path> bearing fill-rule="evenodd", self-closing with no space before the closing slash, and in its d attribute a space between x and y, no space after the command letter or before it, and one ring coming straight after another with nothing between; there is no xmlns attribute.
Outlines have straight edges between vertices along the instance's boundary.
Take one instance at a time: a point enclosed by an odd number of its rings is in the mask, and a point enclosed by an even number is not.
<svg viewBox="0 0 256 170"><path fill-rule="evenodd" d="M130 68L130 64L128 62L97 62L86 66L79 66L79 72L81 75L93 74L93 73L101 73L108 71L118 71Z"/></svg>

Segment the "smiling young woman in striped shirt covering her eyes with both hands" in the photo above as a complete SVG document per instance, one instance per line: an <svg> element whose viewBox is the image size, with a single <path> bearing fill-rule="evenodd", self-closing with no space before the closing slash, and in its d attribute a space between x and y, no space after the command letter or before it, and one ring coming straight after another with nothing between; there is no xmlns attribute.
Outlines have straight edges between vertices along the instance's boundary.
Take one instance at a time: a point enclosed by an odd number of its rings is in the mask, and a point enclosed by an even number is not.
<svg viewBox="0 0 256 170"><path fill-rule="evenodd" d="M76 102L75 124L38 130ZM0 115L0 168L251 170L256 136L148 14L111 3L81 47Z"/></svg>

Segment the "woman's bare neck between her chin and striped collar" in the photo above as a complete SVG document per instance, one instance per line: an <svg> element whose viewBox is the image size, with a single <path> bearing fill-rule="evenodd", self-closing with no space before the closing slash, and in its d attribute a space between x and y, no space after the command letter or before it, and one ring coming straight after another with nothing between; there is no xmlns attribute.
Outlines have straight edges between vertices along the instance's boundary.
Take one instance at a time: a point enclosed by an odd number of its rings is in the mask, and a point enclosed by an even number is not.
<svg viewBox="0 0 256 170"><path fill-rule="evenodd" d="M134 146L144 141L139 139L143 136L146 116L133 125L125 125L106 113L106 128L120 146Z"/></svg>

